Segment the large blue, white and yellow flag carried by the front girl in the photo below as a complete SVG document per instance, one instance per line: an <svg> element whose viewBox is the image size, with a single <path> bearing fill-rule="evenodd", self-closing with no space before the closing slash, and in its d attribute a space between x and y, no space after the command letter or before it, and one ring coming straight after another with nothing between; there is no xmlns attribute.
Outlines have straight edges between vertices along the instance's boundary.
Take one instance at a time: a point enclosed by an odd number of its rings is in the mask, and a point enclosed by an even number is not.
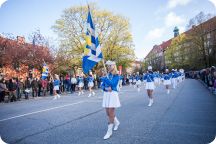
<svg viewBox="0 0 216 144"><path fill-rule="evenodd" d="M90 9L87 17L86 47L84 48L84 56L82 68L84 73L88 73L100 60L103 55L99 44L98 37L95 34L95 25L92 21Z"/></svg>

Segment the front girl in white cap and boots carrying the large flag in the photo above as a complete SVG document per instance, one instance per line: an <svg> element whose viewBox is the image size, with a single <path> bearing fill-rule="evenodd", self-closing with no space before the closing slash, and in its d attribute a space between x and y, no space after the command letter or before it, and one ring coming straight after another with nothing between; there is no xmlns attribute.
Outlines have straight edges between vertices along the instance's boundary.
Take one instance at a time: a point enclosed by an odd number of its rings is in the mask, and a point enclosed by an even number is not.
<svg viewBox="0 0 216 144"><path fill-rule="evenodd" d="M106 64L108 68L108 75L103 78L101 88L104 91L102 106L106 109L109 123L104 140L112 136L113 130L116 131L118 129L120 122L115 115L115 109L121 106L117 90L117 86L119 84L119 75L116 64L113 61L107 61Z"/></svg>

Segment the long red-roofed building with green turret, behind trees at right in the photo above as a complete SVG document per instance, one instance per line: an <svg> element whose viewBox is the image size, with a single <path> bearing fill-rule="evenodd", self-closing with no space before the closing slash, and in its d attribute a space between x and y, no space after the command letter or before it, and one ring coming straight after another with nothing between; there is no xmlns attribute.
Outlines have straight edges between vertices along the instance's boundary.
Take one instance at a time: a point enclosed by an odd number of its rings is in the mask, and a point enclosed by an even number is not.
<svg viewBox="0 0 216 144"><path fill-rule="evenodd" d="M154 70L196 70L216 65L216 17L183 34L179 35L177 27L173 32L172 39L153 46L145 57L147 65L152 65Z"/></svg>

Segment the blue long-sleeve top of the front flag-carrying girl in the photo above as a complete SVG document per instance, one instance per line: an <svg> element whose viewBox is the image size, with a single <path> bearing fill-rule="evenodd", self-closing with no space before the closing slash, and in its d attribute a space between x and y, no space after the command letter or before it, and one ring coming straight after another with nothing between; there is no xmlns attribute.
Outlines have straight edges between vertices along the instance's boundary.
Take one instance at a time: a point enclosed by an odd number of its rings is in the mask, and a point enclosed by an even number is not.
<svg viewBox="0 0 216 144"><path fill-rule="evenodd" d="M113 91L118 91L117 86L119 82L119 75L108 74L107 77L103 77L101 88L103 91L107 92L107 88L111 87Z"/></svg>

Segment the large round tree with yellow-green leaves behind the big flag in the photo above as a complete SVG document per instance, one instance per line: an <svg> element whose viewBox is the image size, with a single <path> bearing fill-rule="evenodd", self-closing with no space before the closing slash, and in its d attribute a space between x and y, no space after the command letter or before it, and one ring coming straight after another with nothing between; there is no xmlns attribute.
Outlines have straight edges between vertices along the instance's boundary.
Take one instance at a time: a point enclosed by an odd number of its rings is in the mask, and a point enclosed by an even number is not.
<svg viewBox="0 0 216 144"><path fill-rule="evenodd" d="M95 4L90 4L90 8L104 59L114 60L123 68L130 66L135 54L129 20L112 12L100 10ZM60 40L56 61L62 64L60 69L81 67L86 46L87 13L87 6L67 8L53 26ZM99 63L95 69L101 67L102 63Z"/></svg>

